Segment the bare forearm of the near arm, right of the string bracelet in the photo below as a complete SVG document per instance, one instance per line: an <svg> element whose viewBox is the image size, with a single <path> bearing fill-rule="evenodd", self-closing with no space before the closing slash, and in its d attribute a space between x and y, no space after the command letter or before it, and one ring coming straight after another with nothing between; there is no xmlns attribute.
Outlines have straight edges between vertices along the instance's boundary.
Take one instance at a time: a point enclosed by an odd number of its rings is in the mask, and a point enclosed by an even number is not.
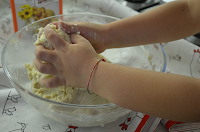
<svg viewBox="0 0 200 132"><path fill-rule="evenodd" d="M200 121L199 79L100 62L89 89L134 111L175 121Z"/></svg>

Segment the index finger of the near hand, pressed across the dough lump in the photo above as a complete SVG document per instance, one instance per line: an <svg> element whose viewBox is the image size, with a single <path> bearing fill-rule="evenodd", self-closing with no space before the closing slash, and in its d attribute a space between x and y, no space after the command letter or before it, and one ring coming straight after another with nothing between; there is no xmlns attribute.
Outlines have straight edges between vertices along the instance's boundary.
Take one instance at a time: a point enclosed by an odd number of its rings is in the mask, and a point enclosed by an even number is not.
<svg viewBox="0 0 200 132"><path fill-rule="evenodd" d="M44 34L47 40L51 43L51 45L55 49L63 49L66 46L69 46L67 43L58 33L56 33L52 28L46 26L44 28Z"/></svg>

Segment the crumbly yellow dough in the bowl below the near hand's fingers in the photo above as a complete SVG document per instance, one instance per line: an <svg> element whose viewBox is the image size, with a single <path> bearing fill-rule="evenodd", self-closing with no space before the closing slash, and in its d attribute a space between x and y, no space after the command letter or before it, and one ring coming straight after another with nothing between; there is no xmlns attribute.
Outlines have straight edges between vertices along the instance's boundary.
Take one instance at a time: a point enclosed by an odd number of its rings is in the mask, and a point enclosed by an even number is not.
<svg viewBox="0 0 200 132"><path fill-rule="evenodd" d="M78 93L78 89L71 88L71 87L59 86L57 88L50 88L50 89L42 87L39 84L40 78L42 76L47 77L47 78L50 78L53 76L47 75L47 74L42 75L35 68L35 66L33 66L29 63L26 63L25 67L27 69L28 77L31 80L31 89L34 94L36 94L40 97L58 101L58 102L63 102L63 103L71 103L74 99L73 96Z"/></svg>

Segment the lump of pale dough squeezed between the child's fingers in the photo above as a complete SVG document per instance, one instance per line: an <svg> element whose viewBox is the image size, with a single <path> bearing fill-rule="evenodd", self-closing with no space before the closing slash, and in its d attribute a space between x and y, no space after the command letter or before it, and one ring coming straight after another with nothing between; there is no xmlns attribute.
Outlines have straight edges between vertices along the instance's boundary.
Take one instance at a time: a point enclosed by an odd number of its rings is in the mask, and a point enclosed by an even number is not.
<svg viewBox="0 0 200 132"><path fill-rule="evenodd" d="M70 40L69 35L65 31L61 30L60 27L58 27L58 29L57 29L56 25L54 25L54 24L48 24L47 26L49 26L55 32L57 32L65 41L67 41L70 44L72 43L71 40ZM34 44L36 46L37 45L43 45L46 49L53 50L54 47L50 44L50 42L45 37L43 29L44 29L43 27L38 29L39 33L37 35L37 40L36 40L36 42Z"/></svg>

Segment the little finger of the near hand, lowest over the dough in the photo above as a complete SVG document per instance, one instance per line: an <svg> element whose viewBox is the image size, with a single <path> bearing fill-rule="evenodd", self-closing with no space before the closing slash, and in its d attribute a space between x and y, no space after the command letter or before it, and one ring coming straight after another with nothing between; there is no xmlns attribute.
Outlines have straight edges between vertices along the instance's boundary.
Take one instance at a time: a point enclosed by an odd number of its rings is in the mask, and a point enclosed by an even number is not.
<svg viewBox="0 0 200 132"><path fill-rule="evenodd" d="M42 78L40 84L46 88L55 88L58 86L65 86L65 82L58 77Z"/></svg>

